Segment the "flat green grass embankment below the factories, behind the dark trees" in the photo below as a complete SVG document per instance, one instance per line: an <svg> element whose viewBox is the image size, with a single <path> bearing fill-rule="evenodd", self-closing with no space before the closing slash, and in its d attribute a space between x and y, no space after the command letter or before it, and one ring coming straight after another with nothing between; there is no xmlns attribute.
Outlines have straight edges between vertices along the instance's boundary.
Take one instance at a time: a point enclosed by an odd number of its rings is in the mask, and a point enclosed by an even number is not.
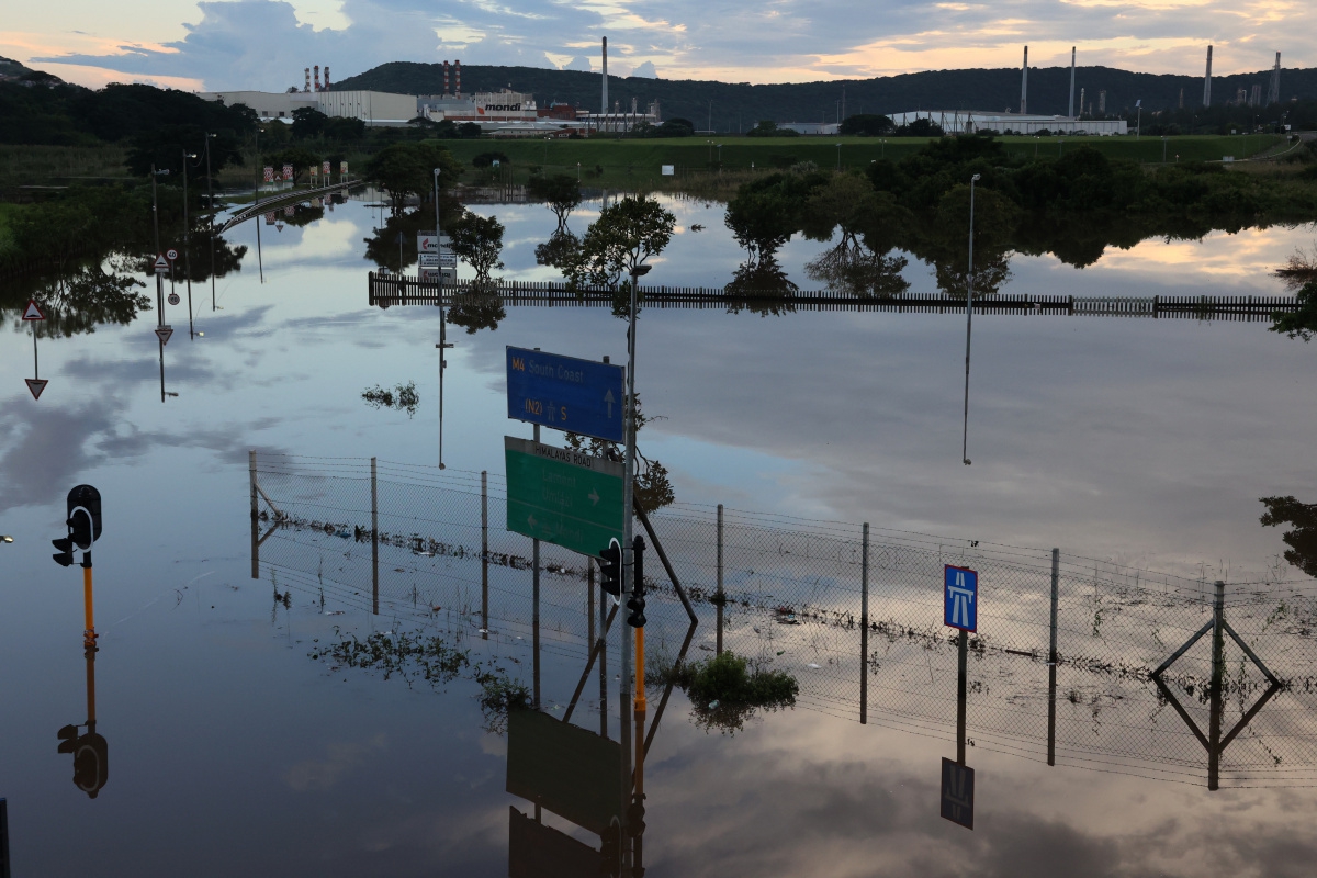
<svg viewBox="0 0 1317 878"><path fill-rule="evenodd" d="M577 172L583 184L630 184L685 188L684 178L707 176L710 168L727 172L789 167L814 162L819 168L865 167L880 158L901 159L927 145L921 137L685 137L676 140L516 140L444 141L444 146L470 166L481 153L503 153L512 163L512 180L523 182L532 166L549 172ZM1108 158L1160 163L1160 137L1000 137L1009 157L1056 158L1076 146L1092 146ZM1167 163L1243 159L1268 150L1284 138L1276 134L1185 136L1166 142ZM722 149L719 149L722 143ZM839 146L840 145L840 146ZM673 165L676 175L661 175ZM602 168L602 172L601 172Z"/></svg>

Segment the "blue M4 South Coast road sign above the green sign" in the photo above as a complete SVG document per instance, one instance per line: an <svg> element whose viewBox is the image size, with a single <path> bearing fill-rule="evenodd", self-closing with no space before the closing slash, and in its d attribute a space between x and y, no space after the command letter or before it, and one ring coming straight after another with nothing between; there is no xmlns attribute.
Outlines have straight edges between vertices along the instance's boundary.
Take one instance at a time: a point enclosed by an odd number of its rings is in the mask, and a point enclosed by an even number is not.
<svg viewBox="0 0 1317 878"><path fill-rule="evenodd" d="M622 366L508 348L507 416L622 442L624 374Z"/></svg>

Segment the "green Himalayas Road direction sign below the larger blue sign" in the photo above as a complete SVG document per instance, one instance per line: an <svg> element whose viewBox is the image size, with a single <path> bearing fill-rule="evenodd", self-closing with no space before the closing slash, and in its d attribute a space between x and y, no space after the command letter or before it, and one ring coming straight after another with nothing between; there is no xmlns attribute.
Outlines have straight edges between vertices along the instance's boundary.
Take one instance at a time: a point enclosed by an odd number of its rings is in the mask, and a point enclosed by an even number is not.
<svg viewBox="0 0 1317 878"><path fill-rule="evenodd" d="M598 555L622 540L622 463L503 437L507 529Z"/></svg>

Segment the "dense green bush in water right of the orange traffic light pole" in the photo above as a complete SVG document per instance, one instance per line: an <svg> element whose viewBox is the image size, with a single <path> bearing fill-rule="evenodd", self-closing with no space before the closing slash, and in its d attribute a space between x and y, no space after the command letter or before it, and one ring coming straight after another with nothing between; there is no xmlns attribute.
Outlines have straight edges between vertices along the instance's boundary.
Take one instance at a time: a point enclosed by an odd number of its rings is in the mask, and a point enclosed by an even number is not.
<svg viewBox="0 0 1317 878"><path fill-rule="evenodd" d="M697 662L674 662L666 654L649 659L655 684L672 682L690 699L691 717L705 731L735 735L756 711L795 706L799 683L781 670L768 670L744 656L724 652Z"/></svg>

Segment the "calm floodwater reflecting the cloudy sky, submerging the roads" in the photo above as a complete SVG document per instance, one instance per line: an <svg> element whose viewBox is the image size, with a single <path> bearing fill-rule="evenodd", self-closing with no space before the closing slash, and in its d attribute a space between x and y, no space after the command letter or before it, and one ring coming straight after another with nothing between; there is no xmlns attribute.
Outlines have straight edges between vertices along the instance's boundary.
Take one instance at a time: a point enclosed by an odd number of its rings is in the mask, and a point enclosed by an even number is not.
<svg viewBox="0 0 1317 878"><path fill-rule="evenodd" d="M653 283L726 283L739 254L720 208L670 207L680 230L653 261ZM570 226L579 233L598 208L586 203ZM554 276L533 255L553 229L545 208L477 209L507 226L503 276ZM500 566L490 574L497 608L487 640L475 609L479 563L429 544L419 553L407 544L382 548L387 583L378 615L363 561L369 538L338 536L337 528L275 533L262 544L259 579L252 578L250 450L274 503L308 520L367 527L363 486L377 457L391 486L386 494L402 498L382 502L394 533L479 546L478 473L489 471L497 500L503 436L531 436L528 425L506 419L504 346L624 357L624 324L603 308L510 305L497 330L450 326L448 469L439 474L439 311L367 307L371 265L362 240L377 225L377 209L348 203L307 226L263 226L263 283L255 226L238 226L230 240L252 251L241 272L217 283L216 309L208 287L192 290L204 336L188 337L184 294L184 304L167 312L175 333L163 370L150 312L126 326L43 338L41 376L50 384L40 401L20 380L32 369L30 337L11 317L0 345L0 534L13 537L0 544L0 798L14 875L586 874L583 845L597 850L599 836L548 804L537 815L532 802L508 791L524 791L510 778L516 729L482 711L470 673L386 678L378 667L308 656L350 636L419 632L533 688L528 570ZM1146 241L1084 270L1017 257L1004 291L1277 295L1268 272L1313 237L1309 226ZM824 246L795 241L784 249L782 265L803 288L814 286L803 263ZM926 266L911 265L905 275L914 291L934 290ZM986 552L981 570L1008 570L1010 558L1026 555L1019 569L1044 569L1055 546L1075 569L1093 559L1094 570L1158 570L1180 577L1181 586L1223 579L1238 586L1231 600L1268 588L1268 600L1310 598L1310 581L1279 558L1284 528L1259 524L1259 498L1317 502L1312 345L1270 333L1264 323L976 317L973 463L965 466L964 344L963 315L645 311L636 379L653 420L641 450L668 469L677 499L656 516L660 534L678 532L682 521L702 523L707 533L714 505L726 504L738 511L736 523L764 533L826 532L851 545L867 521L880 546L923 546L928 554L936 545L948 559ZM412 380L420 394L415 416L373 409L361 398L367 387ZM50 559L49 544L63 534L65 494L79 483L104 498L104 534L94 553L95 715L108 777L95 798L71 782L72 756L57 752L57 731L83 724L90 708L80 577ZM491 544L529 555L528 540L503 533L495 507ZM693 550L674 541L672 553L687 586L712 584ZM547 557L568 559L558 550ZM738 563L740 574L753 566ZM815 586L815 607L842 606L831 586ZM925 687L928 710L892 695L896 683L874 670L861 725L849 690L810 682L810 674L830 673L815 658L828 646L814 644L810 653L809 637L773 617L785 591L753 587L765 595L764 612L734 608L728 636L735 646L757 644L774 667L798 677L802 698L794 710L759 712L730 733L697 721L681 691L672 694L644 763L648 874L1310 873L1317 728L1304 696L1276 696L1256 723L1279 716L1283 724L1255 725L1231 744L1281 754L1271 774L1254 766L1208 790L1208 760L1191 765L1185 754L1196 745L1168 710L1156 723L1177 729L1176 744L1160 753L1162 738L1131 733L1122 756L1096 710L1063 699L1063 721L1092 727L1093 756L1085 760L1083 736L1072 735L1058 765L1046 765L1035 733L1046 727L1046 704L1033 696L1047 671L1035 663L1040 678L1000 683L1029 719L1019 735L976 729L986 700L971 710L971 831L939 813L942 760L956 757L955 649L943 642L928 650L927 682L901 690ZM931 590L931 600L905 606L901 617L925 613L919 624L940 631L940 582L919 587ZM990 619L1036 609L1023 586L1014 583L1008 595L1004 583L1001 602L1011 609L993 616L994 587L985 574L980 588ZM581 579L566 574L547 573L541 588L549 609L539 702L557 720L585 669L589 599ZM279 592L286 602L271 599ZM876 592L876 613L888 612L882 599ZM685 634L681 606L664 595L651 606L651 645L674 652ZM697 603L697 616L690 656L706 658L714 642L707 603ZM1044 616L1046 607L1030 616L1033 634L1013 629L1027 636L1013 634L1011 642L1033 637L1034 648L1046 648ZM1193 633L1197 621L1185 621L1185 631ZM764 637L768 624L782 632L773 646L751 636ZM990 627L980 629L990 642ZM616 632L605 671L603 725L612 740L620 736ZM1255 641L1271 649L1259 648L1260 658L1306 656L1305 628L1287 637ZM901 658L897 667L911 661ZM1001 678L1023 679L1006 661L971 659L975 698L975 682L992 688ZM595 666L590 681L597 675ZM649 691L649 720L661 692ZM598 682L585 687L574 711L572 723L598 732ZM527 752L532 765L545 762L536 774L553 787L544 803L583 795L585 775L578 786L569 771L564 783L552 748ZM1159 760L1176 770L1151 770Z"/></svg>

